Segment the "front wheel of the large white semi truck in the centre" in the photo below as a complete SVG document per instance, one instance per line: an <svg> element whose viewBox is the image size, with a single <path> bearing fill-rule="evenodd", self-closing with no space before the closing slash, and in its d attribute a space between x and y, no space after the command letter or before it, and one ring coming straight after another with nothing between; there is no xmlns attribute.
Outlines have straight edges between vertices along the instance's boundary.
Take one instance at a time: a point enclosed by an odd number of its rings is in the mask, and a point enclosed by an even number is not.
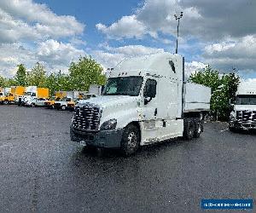
<svg viewBox="0 0 256 213"><path fill-rule="evenodd" d="M121 153L125 156L130 156L137 152L140 146L140 133L137 127L133 124L129 124L125 127L121 140Z"/></svg>

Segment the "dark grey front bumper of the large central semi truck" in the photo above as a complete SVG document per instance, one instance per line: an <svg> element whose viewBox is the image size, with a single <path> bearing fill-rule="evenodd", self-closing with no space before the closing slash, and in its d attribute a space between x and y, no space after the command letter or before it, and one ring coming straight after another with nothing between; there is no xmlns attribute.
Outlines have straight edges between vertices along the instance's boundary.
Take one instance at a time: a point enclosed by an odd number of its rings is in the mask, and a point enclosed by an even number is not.
<svg viewBox="0 0 256 213"><path fill-rule="evenodd" d="M123 129L88 132L70 127L72 141L85 141L86 145L93 147L118 148L121 144L122 135Z"/></svg>

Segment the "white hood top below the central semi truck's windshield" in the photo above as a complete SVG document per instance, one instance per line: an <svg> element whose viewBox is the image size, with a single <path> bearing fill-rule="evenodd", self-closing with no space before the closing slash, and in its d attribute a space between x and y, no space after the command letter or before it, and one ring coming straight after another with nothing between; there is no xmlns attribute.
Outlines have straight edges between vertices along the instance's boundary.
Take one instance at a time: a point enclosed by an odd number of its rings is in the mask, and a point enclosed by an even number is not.
<svg viewBox="0 0 256 213"><path fill-rule="evenodd" d="M102 95L102 96L90 98L89 100L80 100L79 105L91 103L91 104L98 105L102 108L109 108L109 107L119 107L119 106L127 105L136 101L138 101L137 96Z"/></svg>

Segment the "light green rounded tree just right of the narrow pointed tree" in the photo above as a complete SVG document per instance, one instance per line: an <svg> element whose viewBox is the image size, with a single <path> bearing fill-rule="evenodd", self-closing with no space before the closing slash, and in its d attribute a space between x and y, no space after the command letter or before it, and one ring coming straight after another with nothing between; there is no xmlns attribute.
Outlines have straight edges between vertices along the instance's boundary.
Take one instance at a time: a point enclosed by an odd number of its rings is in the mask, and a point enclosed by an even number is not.
<svg viewBox="0 0 256 213"><path fill-rule="evenodd" d="M44 87L46 83L46 72L44 66L39 62L32 68L27 75L27 84L30 86Z"/></svg>

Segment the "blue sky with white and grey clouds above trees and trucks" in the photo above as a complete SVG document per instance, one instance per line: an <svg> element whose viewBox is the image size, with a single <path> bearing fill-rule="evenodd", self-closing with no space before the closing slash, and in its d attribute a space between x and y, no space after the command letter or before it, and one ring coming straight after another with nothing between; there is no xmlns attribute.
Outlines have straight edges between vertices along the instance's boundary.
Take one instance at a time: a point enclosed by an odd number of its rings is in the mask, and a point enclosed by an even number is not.
<svg viewBox="0 0 256 213"><path fill-rule="evenodd" d="M37 61L67 72L71 60L92 55L103 67L124 57L175 51L187 73L207 64L256 78L254 0L0 0L0 74Z"/></svg>

